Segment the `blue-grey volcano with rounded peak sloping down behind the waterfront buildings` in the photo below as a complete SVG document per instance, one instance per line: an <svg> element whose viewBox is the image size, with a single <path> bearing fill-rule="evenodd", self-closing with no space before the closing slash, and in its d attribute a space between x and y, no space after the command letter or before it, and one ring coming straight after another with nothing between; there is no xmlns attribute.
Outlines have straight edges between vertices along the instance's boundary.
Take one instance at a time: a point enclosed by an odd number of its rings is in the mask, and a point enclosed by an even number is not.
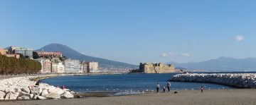
<svg viewBox="0 0 256 105"><path fill-rule="evenodd" d="M45 47L42 47L41 49L38 49L36 51L60 51L63 54L63 56L66 56L67 58L78 59L80 61L97 61L99 62L100 68L108 70L139 68L138 66L134 66L129 63L111 61L105 58L97 58L80 54L78 51L75 51L74 49L71 49L70 47L65 46L63 44L48 44Z"/></svg>

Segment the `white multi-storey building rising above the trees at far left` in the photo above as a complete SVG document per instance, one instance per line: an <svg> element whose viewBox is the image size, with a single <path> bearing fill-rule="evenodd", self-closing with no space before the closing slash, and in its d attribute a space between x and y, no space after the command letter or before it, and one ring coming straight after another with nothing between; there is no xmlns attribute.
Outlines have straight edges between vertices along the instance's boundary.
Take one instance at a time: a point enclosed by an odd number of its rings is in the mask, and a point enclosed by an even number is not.
<svg viewBox="0 0 256 105"><path fill-rule="evenodd" d="M30 48L10 47L8 51L10 54L22 54L28 58L33 58L33 49Z"/></svg>

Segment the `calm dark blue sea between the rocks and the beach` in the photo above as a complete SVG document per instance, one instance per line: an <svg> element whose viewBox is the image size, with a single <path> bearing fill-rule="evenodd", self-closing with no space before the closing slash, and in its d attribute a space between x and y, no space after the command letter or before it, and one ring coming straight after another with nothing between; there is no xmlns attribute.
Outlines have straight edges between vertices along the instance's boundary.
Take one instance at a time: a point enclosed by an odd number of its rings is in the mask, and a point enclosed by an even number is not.
<svg viewBox="0 0 256 105"><path fill-rule="evenodd" d="M166 86L174 73L170 74L122 74L122 75L78 75L48 78L41 82L49 85L64 85L75 92L91 91L146 91L154 90L156 83ZM224 85L197 82L171 82L171 89L233 89Z"/></svg>

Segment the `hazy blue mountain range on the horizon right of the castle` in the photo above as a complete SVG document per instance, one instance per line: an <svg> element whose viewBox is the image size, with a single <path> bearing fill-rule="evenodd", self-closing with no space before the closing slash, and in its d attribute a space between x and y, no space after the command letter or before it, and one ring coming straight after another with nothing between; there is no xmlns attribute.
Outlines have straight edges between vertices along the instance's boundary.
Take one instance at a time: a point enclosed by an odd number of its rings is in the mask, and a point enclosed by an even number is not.
<svg viewBox="0 0 256 105"><path fill-rule="evenodd" d="M175 63L176 67L200 70L216 70L216 71L252 71L256 70L256 58L231 58L220 57L209 61Z"/></svg>

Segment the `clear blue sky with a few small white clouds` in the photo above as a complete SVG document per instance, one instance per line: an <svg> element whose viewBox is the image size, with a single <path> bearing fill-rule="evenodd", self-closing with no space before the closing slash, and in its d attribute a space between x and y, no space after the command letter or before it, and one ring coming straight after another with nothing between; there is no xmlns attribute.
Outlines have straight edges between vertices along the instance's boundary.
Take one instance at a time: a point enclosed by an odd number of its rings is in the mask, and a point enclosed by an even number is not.
<svg viewBox="0 0 256 105"><path fill-rule="evenodd" d="M0 47L59 43L123 61L256 58L256 1L0 0Z"/></svg>

